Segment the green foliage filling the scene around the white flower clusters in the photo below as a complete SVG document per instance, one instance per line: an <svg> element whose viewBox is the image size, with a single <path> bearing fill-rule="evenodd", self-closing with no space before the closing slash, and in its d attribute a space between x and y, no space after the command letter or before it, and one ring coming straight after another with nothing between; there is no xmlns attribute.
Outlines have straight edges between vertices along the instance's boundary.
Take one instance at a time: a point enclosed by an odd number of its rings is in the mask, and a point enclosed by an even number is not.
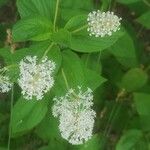
<svg viewBox="0 0 150 150"><path fill-rule="evenodd" d="M96 9L122 17L121 30L89 37L84 25ZM60 0L54 23L55 12L56 0L0 0L0 62L15 83L0 94L0 150L149 150L150 2ZM45 54L57 63L55 86L42 101L26 101L18 62ZM92 139L73 146L61 138L51 106L77 85L94 90L97 117Z"/></svg>

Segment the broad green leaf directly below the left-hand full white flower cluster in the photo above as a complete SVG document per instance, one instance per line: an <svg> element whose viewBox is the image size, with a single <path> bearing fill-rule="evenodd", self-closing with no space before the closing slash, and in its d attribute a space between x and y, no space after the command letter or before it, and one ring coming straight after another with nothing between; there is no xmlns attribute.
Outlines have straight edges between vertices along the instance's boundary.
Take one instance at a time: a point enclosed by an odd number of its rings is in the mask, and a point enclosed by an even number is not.
<svg viewBox="0 0 150 150"><path fill-rule="evenodd" d="M34 128L44 118L47 110L45 99L28 101L20 98L12 111L12 136L14 137Z"/></svg>

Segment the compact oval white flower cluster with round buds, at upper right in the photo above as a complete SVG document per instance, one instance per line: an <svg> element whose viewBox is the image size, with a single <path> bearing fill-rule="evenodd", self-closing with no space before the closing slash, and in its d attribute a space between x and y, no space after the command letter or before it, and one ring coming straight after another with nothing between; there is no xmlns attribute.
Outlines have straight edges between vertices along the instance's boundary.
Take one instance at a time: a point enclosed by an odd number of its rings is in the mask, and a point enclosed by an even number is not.
<svg viewBox="0 0 150 150"><path fill-rule="evenodd" d="M101 12L100 10L89 13L88 31L90 36L104 37L106 35L111 36L112 32L119 30L120 20L118 16L114 15L114 12Z"/></svg>

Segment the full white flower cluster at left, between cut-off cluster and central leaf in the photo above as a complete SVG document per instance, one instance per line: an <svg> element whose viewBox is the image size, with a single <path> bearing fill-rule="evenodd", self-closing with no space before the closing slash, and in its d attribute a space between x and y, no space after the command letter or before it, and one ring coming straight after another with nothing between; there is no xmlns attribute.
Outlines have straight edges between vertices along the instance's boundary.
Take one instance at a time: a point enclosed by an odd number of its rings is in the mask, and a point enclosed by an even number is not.
<svg viewBox="0 0 150 150"><path fill-rule="evenodd" d="M36 97L37 100L41 100L44 93L54 85L54 78L52 77L54 69L55 63L48 60L47 57L39 63L36 56L26 56L22 59L18 82L24 98L29 100Z"/></svg>

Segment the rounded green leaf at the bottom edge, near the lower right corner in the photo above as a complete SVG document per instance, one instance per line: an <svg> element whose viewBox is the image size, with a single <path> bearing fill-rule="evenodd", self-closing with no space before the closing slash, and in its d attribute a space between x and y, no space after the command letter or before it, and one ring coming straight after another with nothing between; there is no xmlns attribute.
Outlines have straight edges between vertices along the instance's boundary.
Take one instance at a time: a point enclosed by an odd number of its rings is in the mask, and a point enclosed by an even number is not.
<svg viewBox="0 0 150 150"><path fill-rule="evenodd" d="M116 145L116 150L131 150L142 138L142 132L137 129L126 131Z"/></svg>

